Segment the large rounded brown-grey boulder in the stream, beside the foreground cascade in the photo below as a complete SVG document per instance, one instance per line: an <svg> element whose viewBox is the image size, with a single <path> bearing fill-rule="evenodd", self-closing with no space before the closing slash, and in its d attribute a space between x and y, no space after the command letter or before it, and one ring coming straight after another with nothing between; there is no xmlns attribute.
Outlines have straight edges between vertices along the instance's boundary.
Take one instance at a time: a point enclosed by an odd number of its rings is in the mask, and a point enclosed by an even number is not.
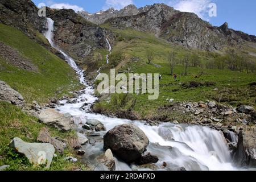
<svg viewBox="0 0 256 182"><path fill-rule="evenodd" d="M149 140L139 127L132 124L115 126L104 135L104 149L112 152L126 163L139 159Z"/></svg>

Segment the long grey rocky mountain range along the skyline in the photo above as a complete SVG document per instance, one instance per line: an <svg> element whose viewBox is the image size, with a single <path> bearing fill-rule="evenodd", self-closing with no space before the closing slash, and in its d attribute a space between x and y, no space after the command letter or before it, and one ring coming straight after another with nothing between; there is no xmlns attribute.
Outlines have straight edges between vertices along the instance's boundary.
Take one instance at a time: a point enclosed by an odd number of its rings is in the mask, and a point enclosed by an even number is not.
<svg viewBox="0 0 256 182"><path fill-rule="evenodd" d="M135 28L153 33L180 46L207 51L233 46L243 40L256 40L256 36L228 28L227 23L214 27L196 14L176 11L163 3L140 9L130 5L120 11L109 9L96 14L80 14L96 24L108 22L112 28Z"/></svg>

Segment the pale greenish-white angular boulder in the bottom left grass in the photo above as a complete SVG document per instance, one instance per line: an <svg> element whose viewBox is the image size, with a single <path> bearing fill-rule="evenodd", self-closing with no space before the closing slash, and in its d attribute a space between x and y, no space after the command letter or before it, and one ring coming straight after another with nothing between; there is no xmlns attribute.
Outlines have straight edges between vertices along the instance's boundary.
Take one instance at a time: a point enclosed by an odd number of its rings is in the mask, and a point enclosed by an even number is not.
<svg viewBox="0 0 256 182"><path fill-rule="evenodd" d="M16 152L24 154L28 161L34 166L46 164L49 168L52 162L55 149L49 143L27 143L20 138L14 138L9 144Z"/></svg>

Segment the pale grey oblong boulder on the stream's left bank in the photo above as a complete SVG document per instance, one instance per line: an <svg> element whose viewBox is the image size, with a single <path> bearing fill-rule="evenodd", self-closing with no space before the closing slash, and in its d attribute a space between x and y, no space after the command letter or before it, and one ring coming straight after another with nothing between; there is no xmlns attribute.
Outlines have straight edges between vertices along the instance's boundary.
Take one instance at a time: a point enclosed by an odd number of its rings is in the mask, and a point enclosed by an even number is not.
<svg viewBox="0 0 256 182"><path fill-rule="evenodd" d="M70 131L75 128L73 119L70 116L61 114L54 109L42 110L39 114L39 121L61 131Z"/></svg>

